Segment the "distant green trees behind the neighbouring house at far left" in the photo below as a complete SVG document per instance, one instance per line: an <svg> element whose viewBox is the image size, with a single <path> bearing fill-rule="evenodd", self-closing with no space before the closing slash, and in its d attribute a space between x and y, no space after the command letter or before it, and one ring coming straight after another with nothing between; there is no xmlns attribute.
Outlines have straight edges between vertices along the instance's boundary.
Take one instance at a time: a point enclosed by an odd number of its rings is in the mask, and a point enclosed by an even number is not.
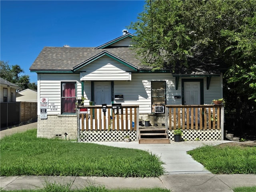
<svg viewBox="0 0 256 192"><path fill-rule="evenodd" d="M22 89L28 88L29 76L22 75L24 70L19 65L10 66L8 62L0 61L1 78L16 84Z"/></svg>

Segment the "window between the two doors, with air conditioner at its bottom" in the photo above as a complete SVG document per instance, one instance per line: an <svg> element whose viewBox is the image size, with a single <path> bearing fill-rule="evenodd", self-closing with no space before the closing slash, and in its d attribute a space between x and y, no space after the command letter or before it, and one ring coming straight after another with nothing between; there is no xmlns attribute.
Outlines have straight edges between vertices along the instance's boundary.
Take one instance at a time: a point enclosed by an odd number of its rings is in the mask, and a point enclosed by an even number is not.
<svg viewBox="0 0 256 192"><path fill-rule="evenodd" d="M152 112L155 112L155 106L164 106L166 104L166 82L151 82L151 104ZM159 112L159 111L158 111Z"/></svg>

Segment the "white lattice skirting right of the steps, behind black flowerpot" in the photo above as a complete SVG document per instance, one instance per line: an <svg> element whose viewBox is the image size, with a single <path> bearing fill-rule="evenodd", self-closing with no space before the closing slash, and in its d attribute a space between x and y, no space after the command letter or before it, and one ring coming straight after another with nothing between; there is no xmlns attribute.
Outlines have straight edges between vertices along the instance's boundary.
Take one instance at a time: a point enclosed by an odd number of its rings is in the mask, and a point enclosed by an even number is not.
<svg viewBox="0 0 256 192"><path fill-rule="evenodd" d="M173 130L168 130L170 141L174 141ZM221 130L183 130L181 137L185 141L214 141L221 140Z"/></svg>

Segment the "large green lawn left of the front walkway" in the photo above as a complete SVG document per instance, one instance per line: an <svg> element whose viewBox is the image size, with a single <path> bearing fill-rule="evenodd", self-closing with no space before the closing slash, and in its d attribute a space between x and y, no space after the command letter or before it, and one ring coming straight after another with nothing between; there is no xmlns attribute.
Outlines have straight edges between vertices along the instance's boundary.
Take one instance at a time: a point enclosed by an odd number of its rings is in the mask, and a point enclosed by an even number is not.
<svg viewBox="0 0 256 192"><path fill-rule="evenodd" d="M36 129L0 140L0 176L158 177L163 162L155 154L93 143L36 138Z"/></svg>

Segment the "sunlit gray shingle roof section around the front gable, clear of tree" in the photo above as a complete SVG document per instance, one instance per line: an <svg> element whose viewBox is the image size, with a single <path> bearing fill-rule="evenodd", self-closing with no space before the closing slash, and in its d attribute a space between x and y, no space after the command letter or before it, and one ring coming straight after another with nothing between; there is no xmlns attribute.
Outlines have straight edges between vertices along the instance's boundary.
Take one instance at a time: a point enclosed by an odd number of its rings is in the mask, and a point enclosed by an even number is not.
<svg viewBox="0 0 256 192"><path fill-rule="evenodd" d="M106 50L116 57L133 64L139 69L143 66L136 58L136 53L129 47L95 49L86 47L44 47L32 66L31 71L71 71L72 68Z"/></svg>

